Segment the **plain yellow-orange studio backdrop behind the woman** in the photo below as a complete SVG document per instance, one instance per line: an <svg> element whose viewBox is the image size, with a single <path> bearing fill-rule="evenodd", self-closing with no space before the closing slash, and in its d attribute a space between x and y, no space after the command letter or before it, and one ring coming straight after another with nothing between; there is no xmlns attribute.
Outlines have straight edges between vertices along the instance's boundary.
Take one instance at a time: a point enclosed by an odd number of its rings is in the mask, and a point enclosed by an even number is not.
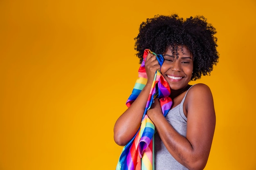
<svg viewBox="0 0 256 170"><path fill-rule="evenodd" d="M113 126L137 78L134 40L156 14L204 15L220 60L205 170L256 170L255 0L1 0L0 170L113 170Z"/></svg>

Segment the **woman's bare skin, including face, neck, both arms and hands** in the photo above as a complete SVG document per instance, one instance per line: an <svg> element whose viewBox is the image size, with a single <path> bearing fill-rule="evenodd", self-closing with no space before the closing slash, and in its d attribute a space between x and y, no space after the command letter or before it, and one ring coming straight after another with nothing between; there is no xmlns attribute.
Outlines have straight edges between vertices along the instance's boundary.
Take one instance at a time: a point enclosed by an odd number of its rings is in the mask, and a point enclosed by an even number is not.
<svg viewBox="0 0 256 170"><path fill-rule="evenodd" d="M181 49L181 46L179 47ZM183 47L183 53L181 50L178 53L176 58L176 54L167 49L161 68L162 75L171 87L172 108L180 104L189 89L188 83L193 71L193 55L186 46ZM139 129L155 71L160 69L155 55L148 54L145 68L148 75L146 86L135 102L117 119L114 127L115 142L121 146L126 145ZM183 110L187 117L186 137L180 135L166 121L159 99L155 99L147 115L155 124L170 154L186 168L201 170L209 157L216 123L213 97L209 87L205 84L196 84L191 87L184 101Z"/></svg>

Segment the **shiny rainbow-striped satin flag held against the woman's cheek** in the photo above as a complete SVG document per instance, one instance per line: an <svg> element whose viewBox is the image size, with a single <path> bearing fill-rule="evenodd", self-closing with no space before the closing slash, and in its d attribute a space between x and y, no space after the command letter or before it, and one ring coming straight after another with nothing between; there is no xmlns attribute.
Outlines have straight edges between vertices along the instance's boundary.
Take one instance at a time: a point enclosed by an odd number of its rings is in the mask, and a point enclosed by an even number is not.
<svg viewBox="0 0 256 170"><path fill-rule="evenodd" d="M139 93L144 88L147 82L147 74L145 70L145 61L148 53L153 53L149 49L144 51L143 62L139 67L139 76L132 90L132 94L128 98L126 105L130 107L132 102L137 99ZM164 58L162 55L158 55L157 60L162 66ZM119 157L116 170L154 170L154 151L153 151L153 137L155 133L155 126L153 122L146 115L151 104L156 97L159 98L162 113L167 115L171 108L172 100L169 97L171 89L159 70L155 73L154 82L151 86L148 96L148 102L146 104L144 114L141 121L141 126L136 135L124 146L122 153Z"/></svg>

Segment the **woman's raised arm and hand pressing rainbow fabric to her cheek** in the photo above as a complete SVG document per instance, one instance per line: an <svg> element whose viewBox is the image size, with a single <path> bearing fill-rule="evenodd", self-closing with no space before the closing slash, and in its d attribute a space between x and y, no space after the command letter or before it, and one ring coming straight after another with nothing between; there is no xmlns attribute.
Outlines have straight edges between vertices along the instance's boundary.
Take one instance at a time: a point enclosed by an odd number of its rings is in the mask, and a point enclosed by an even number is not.
<svg viewBox="0 0 256 170"><path fill-rule="evenodd" d="M126 145L134 137L141 124L155 72L160 69L155 55L148 53L145 69L148 76L145 87L132 105L117 119L114 126L114 140L120 146Z"/></svg>

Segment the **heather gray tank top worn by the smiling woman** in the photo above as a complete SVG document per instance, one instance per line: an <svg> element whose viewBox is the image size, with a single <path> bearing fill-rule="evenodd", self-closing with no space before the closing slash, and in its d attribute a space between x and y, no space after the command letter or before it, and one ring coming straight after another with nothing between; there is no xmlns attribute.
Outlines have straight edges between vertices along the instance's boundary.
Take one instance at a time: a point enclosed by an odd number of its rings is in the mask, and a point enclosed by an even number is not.
<svg viewBox="0 0 256 170"><path fill-rule="evenodd" d="M187 118L183 112L183 104L188 91L182 99L182 102L172 108L166 115L166 120L178 133L180 133L180 135L184 137L186 137ZM188 168L182 166L182 164L173 158L173 156L164 146L164 143L160 139L157 132L155 134L155 170L188 170Z"/></svg>

